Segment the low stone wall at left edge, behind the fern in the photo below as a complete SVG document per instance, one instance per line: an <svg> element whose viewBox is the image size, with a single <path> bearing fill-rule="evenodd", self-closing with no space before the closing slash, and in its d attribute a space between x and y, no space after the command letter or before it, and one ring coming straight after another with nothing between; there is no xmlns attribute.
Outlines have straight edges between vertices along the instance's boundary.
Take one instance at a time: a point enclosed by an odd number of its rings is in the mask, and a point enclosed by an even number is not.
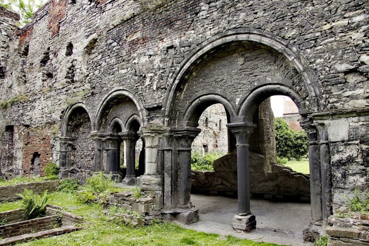
<svg viewBox="0 0 369 246"><path fill-rule="evenodd" d="M33 190L34 193L41 193L44 190L52 192L58 188L59 184L60 181L56 180L0 186L0 202L10 202L20 199L21 197L17 194L23 193L26 188Z"/></svg>

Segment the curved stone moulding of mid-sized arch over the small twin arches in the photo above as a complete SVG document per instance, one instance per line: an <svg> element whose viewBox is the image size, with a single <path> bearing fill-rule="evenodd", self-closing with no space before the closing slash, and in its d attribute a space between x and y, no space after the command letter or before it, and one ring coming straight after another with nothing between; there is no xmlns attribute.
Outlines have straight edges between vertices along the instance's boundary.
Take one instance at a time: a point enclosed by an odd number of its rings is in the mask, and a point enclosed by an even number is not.
<svg viewBox="0 0 369 246"><path fill-rule="evenodd" d="M128 97L130 100L133 101L133 103L136 105L138 113L139 113L139 117L142 120L142 123L145 123L145 119L146 119L146 112L144 107L142 106L142 104L139 102L138 99L136 99L136 97L134 96L133 93L123 89L123 88L116 88L114 90L112 90L111 92L109 92L108 94L106 94L104 96L104 98L102 99L101 103L99 104L96 116L95 116L95 121L94 121L94 127L93 130L99 130L101 128L101 118L103 117L103 113L104 113L104 109L105 107L109 104L109 102L111 100L113 100L116 97L119 96L126 96Z"/></svg>

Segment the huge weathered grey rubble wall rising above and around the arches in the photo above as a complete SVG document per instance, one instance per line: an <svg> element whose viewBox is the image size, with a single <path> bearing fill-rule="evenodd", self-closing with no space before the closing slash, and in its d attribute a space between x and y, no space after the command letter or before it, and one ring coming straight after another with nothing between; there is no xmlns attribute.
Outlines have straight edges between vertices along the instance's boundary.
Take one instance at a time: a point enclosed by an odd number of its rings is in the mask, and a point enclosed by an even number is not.
<svg viewBox="0 0 369 246"><path fill-rule="evenodd" d="M2 109L0 125L54 124L81 102L95 130L105 96L125 90L141 105L145 122L175 127L202 95L222 95L237 114L251 92L268 84L269 96L283 85L299 102L315 153L312 197L322 195L330 206L332 195L338 207L342 194L368 181L368 4L51 0L6 39L0 100L13 104Z"/></svg>

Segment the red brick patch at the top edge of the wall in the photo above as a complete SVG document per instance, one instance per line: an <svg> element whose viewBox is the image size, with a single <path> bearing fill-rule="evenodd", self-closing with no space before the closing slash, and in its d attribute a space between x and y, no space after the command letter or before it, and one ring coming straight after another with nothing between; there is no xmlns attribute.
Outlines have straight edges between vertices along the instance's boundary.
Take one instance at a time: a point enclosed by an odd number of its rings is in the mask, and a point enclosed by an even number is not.
<svg viewBox="0 0 369 246"><path fill-rule="evenodd" d="M59 22L65 17L66 0L51 0L49 11L49 25L51 36L59 33Z"/></svg>

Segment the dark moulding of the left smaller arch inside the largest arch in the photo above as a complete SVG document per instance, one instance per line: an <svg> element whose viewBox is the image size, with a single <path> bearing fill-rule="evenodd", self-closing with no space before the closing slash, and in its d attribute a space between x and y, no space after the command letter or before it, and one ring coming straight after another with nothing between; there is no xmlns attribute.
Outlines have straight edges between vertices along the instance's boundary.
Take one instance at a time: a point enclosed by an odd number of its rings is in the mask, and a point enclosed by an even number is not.
<svg viewBox="0 0 369 246"><path fill-rule="evenodd" d="M236 117L236 111L234 110L232 104L225 97L216 94L208 94L200 96L191 102L191 104L184 111L185 113L181 124L197 127L201 114L209 106L216 103L223 105L227 114L227 119Z"/></svg>

